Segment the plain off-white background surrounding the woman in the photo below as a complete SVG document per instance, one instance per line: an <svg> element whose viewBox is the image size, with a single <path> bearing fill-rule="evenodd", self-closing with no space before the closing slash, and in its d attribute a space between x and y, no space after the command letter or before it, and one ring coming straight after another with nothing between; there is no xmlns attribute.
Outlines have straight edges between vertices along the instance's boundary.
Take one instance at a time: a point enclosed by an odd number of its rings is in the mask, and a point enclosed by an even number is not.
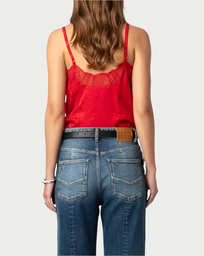
<svg viewBox="0 0 204 256"><path fill-rule="evenodd" d="M151 41L159 193L146 209L146 256L203 254L203 2L124 1ZM44 204L46 47L73 1L1 4L1 255L57 255ZM99 215L97 255L103 255Z"/></svg>

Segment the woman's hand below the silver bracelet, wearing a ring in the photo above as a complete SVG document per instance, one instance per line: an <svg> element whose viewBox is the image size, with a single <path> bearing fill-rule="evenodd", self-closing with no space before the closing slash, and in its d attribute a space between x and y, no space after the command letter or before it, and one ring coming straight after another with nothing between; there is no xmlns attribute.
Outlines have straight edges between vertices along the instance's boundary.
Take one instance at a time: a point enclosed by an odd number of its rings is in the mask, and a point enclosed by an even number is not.
<svg viewBox="0 0 204 256"><path fill-rule="evenodd" d="M56 181L46 184L44 187L44 192L43 192L43 197L45 199L45 203L47 204L47 207L53 212L56 212L56 210L57 210L56 207L54 207L54 205L53 205L53 204L55 204L55 198L52 197L52 194L55 193L55 182ZM52 198L53 204L51 202L51 198Z"/></svg>

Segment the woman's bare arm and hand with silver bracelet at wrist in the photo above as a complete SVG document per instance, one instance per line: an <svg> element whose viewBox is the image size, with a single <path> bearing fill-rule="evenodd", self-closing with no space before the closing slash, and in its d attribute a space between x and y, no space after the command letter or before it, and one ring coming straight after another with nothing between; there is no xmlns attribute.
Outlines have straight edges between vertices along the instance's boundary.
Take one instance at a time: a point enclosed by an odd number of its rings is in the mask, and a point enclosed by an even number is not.
<svg viewBox="0 0 204 256"><path fill-rule="evenodd" d="M55 167L64 129L65 89L67 84L64 61L64 41L61 29L51 32L47 44L48 103L45 112L46 170L45 180L55 179ZM43 197L50 210L56 212L51 203L55 182L45 185ZM55 203L55 201L53 202Z"/></svg>

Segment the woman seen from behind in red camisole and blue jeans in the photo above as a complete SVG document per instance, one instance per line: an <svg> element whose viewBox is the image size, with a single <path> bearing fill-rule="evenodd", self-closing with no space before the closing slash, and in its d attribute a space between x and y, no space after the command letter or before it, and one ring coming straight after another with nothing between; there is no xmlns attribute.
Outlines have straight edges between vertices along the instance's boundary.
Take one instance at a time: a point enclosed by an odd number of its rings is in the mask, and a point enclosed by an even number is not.
<svg viewBox="0 0 204 256"><path fill-rule="evenodd" d="M145 255L146 207L158 192L151 47L123 9L74 1L70 24L48 38L43 197L57 213L58 255L96 255L100 205L104 255Z"/></svg>

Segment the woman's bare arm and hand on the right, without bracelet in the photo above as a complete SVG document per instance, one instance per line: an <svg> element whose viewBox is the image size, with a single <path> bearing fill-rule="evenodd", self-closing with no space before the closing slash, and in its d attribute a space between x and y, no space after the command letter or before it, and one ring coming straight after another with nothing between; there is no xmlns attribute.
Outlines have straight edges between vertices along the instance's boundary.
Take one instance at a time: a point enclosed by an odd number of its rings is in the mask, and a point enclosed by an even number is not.
<svg viewBox="0 0 204 256"><path fill-rule="evenodd" d="M151 45L148 33L135 27L135 62L132 70L133 114L146 164L146 181L150 190L148 207L158 188L154 150L154 114L151 104Z"/></svg>

